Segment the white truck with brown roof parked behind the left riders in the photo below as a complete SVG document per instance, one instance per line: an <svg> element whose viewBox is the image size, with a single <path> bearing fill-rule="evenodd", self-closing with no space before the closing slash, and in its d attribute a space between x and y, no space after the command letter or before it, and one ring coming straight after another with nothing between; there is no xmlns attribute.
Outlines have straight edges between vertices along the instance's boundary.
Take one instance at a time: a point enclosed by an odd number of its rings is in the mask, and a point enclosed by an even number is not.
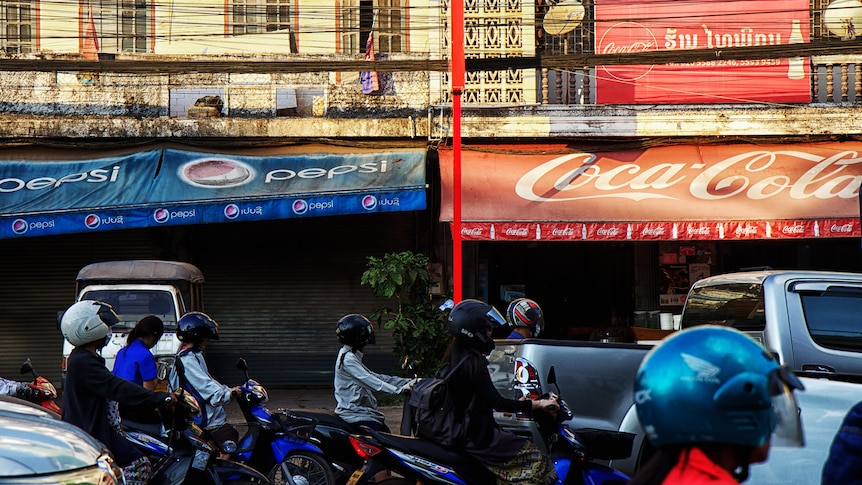
<svg viewBox="0 0 862 485"><path fill-rule="evenodd" d="M176 261L130 260L108 261L87 265L76 278L75 302L101 301L111 305L120 317L111 327L111 339L101 350L108 369L114 368L117 352L126 345L129 332L147 315L159 317L165 332L150 351L164 380L179 348L177 322L189 311L203 311L201 271L194 265ZM58 315L59 324L62 313ZM62 373L72 344L63 341Z"/></svg>

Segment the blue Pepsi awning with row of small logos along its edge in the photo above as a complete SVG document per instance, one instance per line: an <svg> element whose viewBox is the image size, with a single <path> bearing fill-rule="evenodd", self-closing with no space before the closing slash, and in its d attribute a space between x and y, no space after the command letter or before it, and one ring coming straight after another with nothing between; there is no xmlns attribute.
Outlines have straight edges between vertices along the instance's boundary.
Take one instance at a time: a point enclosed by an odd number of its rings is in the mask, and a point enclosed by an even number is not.
<svg viewBox="0 0 862 485"><path fill-rule="evenodd" d="M0 238L425 208L420 149L0 162Z"/></svg>

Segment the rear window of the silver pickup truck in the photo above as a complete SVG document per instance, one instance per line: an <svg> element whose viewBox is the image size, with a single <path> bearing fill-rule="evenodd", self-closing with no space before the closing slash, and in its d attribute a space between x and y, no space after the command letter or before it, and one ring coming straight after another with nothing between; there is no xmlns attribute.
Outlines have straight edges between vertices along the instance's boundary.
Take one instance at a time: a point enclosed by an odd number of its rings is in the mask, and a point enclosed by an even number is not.
<svg viewBox="0 0 862 485"><path fill-rule="evenodd" d="M766 328L763 286L731 283L694 288L685 302L685 327L726 325L743 331Z"/></svg>

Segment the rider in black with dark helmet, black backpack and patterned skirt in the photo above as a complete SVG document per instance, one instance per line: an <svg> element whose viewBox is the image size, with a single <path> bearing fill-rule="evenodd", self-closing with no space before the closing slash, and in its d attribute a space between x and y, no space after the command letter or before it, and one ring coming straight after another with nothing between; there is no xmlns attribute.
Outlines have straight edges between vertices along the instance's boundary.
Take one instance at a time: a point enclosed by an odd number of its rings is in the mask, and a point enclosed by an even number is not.
<svg viewBox="0 0 862 485"><path fill-rule="evenodd" d="M550 458L530 440L494 421L494 410L530 414L557 408L556 396L533 401L507 399L494 387L486 355L494 349L493 331L506 325L496 308L479 300L463 300L449 313L447 328L453 338L444 361L451 372L453 412L459 419L470 417L464 451L493 472L498 484L551 484L557 474Z"/></svg>

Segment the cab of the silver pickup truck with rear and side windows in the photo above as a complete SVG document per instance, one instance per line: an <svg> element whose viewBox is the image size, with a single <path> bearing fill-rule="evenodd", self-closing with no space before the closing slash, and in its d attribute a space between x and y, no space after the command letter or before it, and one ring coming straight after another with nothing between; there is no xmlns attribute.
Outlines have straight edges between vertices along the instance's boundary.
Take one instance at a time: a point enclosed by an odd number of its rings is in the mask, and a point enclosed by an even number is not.
<svg viewBox="0 0 862 485"><path fill-rule="evenodd" d="M681 327L726 325L796 371L862 374L862 274L750 271L692 285Z"/></svg>

